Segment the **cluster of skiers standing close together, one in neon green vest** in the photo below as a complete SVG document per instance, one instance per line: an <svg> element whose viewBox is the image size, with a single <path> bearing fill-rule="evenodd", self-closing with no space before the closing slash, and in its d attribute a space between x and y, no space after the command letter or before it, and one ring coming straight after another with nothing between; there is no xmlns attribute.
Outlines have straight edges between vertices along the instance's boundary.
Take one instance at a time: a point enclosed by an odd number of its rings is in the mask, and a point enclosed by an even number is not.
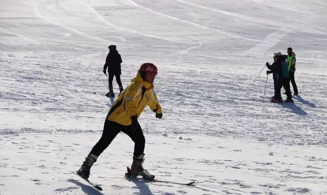
<svg viewBox="0 0 327 195"><path fill-rule="evenodd" d="M274 53L274 63L266 63L267 75L272 73L274 79L274 96L271 97L272 102L282 102L281 89L284 87L287 98L284 102L293 102L292 93L290 89L289 82L293 85L294 96L299 95L298 88L295 83L294 73L295 73L295 53L292 48L287 48L287 54L283 55L280 52ZM285 61L286 60L286 61Z"/></svg>

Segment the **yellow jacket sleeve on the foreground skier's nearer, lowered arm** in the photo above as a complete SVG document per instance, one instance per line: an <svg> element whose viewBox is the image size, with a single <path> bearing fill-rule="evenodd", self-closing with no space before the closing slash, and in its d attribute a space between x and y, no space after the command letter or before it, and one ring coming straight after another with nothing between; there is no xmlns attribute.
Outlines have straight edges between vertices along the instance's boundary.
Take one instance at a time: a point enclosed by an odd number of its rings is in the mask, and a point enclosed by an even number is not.
<svg viewBox="0 0 327 195"><path fill-rule="evenodd" d="M131 83L126 88L126 94L124 96L123 106L124 110L128 113L129 116L136 116L136 102L135 98L141 93L142 85L138 83Z"/></svg>

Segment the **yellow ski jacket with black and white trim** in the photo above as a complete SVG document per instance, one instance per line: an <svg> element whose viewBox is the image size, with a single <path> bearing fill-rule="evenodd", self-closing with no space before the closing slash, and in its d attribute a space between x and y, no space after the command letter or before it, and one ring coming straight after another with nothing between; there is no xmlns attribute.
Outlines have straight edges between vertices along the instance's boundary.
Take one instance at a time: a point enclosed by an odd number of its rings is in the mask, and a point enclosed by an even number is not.
<svg viewBox="0 0 327 195"><path fill-rule="evenodd" d="M153 90L153 84L144 81L138 71L135 78L113 102L107 119L121 125L131 125L131 116L139 117L146 107L157 114L161 113L161 106Z"/></svg>

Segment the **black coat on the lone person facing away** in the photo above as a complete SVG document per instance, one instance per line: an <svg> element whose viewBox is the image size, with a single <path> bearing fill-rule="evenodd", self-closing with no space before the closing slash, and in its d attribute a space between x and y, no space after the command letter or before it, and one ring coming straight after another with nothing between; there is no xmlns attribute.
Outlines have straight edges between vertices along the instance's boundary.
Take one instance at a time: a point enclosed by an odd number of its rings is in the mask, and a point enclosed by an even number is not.
<svg viewBox="0 0 327 195"><path fill-rule="evenodd" d="M106 70L108 67L108 74L121 75L122 74L121 67L120 67L121 63L122 63L122 58L118 53L118 51L110 50L107 55L106 63L104 64L103 69Z"/></svg>

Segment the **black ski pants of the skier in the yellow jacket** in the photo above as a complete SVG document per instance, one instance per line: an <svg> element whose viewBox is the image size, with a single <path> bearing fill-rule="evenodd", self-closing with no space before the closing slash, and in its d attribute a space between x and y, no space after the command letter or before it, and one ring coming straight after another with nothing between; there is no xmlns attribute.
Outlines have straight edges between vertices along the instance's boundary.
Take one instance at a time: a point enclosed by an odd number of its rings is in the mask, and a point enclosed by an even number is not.
<svg viewBox="0 0 327 195"><path fill-rule="evenodd" d="M135 143L134 156L139 157L141 154L144 154L145 138L140 124L138 125L136 130L131 130L130 127L130 125L125 126L106 119L103 127L102 136L92 148L91 153L97 157L100 156L100 154L110 145L110 143L118 135L118 133L122 131L127 134Z"/></svg>

